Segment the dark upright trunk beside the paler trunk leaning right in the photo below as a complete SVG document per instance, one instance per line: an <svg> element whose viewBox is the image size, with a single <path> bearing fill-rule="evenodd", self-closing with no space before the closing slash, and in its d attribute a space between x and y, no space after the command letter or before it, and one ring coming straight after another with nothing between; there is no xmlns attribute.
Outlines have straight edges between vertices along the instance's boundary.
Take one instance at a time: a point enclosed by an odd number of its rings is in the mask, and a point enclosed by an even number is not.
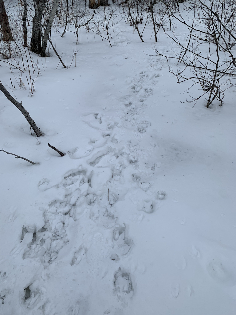
<svg viewBox="0 0 236 315"><path fill-rule="evenodd" d="M31 49L31 51L33 51L36 54L40 54L41 48L42 48L42 44L41 44L41 37L42 37L41 20L42 20L42 14L43 14L43 11L45 8L45 2L46 2L46 0L34 0L35 16L33 17L30 49Z"/></svg>

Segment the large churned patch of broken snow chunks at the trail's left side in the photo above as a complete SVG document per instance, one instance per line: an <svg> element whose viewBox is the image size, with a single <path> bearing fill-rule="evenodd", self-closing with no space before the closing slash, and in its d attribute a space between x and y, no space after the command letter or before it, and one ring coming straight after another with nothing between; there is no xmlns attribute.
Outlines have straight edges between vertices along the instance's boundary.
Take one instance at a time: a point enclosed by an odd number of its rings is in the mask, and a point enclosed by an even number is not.
<svg viewBox="0 0 236 315"><path fill-rule="evenodd" d="M70 171L67 174L58 185L58 189L64 190L64 197L54 200L43 209L44 226L39 230L23 226L21 241L26 234L31 237L28 248L23 253L23 259L39 258L43 264L51 264L69 241L66 226L70 217L76 221L76 203L81 196L87 194L89 180L84 169Z"/></svg>

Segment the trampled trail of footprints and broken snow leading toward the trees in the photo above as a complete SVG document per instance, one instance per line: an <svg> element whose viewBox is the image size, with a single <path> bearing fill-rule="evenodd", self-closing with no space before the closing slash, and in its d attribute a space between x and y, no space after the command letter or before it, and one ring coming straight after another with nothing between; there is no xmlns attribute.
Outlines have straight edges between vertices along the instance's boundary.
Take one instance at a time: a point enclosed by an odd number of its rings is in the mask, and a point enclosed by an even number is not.
<svg viewBox="0 0 236 315"><path fill-rule="evenodd" d="M113 303L119 302L122 307L128 306L134 290L130 272L132 260L127 263L134 244L128 235L129 222L119 215L122 207L119 203L128 193L137 210L141 211L140 214L135 211L137 222L140 222L166 198L166 192L150 190L156 168L152 159L155 142L150 139L145 152L141 146L143 136L151 126L148 117L143 120L145 101L152 92L152 85L146 81L151 79L154 85L158 77L157 73L141 72L138 78L132 79L127 89L130 94L121 98L115 121L114 117L101 113L83 117L85 123L97 130L98 137L91 139L83 152L79 147L68 151L70 158L78 159L81 165L67 172L61 183L50 187L47 178L38 183L39 190L49 192L52 201L40 209L43 226L39 229L23 226L21 243L25 249L19 244L23 259L40 261L46 268L64 257L70 248L70 255L66 256L74 272L85 268L88 282L90 277L100 280L110 277L109 282L114 284ZM144 86L143 82L146 83ZM70 231L76 235L73 237ZM138 268L141 273L145 271L144 266ZM35 278L39 278L39 274ZM34 280L27 288L30 294L28 296L25 291L25 306L46 309L43 290ZM73 312L70 306L68 314Z"/></svg>

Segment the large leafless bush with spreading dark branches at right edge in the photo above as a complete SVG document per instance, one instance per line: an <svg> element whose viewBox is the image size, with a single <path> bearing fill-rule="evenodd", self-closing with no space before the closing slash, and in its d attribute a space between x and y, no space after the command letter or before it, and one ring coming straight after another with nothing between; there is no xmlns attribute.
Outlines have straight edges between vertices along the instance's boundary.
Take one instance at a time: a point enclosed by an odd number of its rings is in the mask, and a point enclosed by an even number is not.
<svg viewBox="0 0 236 315"><path fill-rule="evenodd" d="M207 5L207 3L210 3ZM202 96L207 100L206 107L209 107L214 100L220 102L224 98L224 91L234 85L232 77L236 75L236 63L232 47L236 43L236 3L231 0L190 0L184 5L185 12L194 12L194 17L190 20L183 17L180 10L169 10L174 21L187 26L189 35L185 42L176 35L176 28L172 23L172 33L167 32L165 26L163 30L166 35L176 43L179 51L171 57L177 60L178 64L184 64L182 70L170 69L177 77L177 82L192 80L193 85L199 84L202 94L197 98L192 98L196 103ZM187 15L188 16L188 15ZM203 53L201 48L206 48ZM163 56L155 49L157 54ZM186 70L192 69L189 75ZM194 104L195 104L194 103Z"/></svg>

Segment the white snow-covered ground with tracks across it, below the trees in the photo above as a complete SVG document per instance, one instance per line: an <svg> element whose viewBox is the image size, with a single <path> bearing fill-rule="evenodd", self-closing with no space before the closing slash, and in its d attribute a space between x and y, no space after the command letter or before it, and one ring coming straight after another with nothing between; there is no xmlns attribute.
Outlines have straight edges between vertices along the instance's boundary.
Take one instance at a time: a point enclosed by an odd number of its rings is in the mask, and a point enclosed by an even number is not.
<svg viewBox="0 0 236 315"><path fill-rule="evenodd" d="M37 162L0 155L1 315L235 314L235 91L184 103L198 87L183 94L152 49L174 43L151 34L141 43L121 18L112 47L54 33L76 67L39 60L32 97L0 61L45 134L1 95L0 148Z"/></svg>

